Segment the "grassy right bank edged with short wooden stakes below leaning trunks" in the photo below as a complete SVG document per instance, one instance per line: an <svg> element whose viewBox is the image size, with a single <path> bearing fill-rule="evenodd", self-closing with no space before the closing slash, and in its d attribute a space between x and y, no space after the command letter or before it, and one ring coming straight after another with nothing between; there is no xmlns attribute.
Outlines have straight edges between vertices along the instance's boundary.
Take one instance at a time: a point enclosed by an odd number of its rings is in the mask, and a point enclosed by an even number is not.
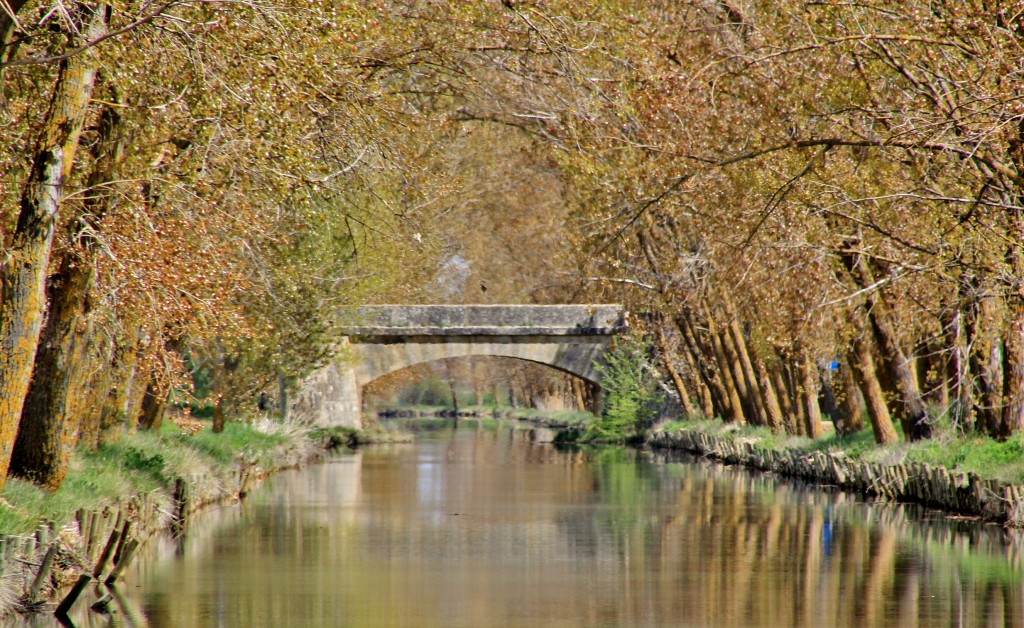
<svg viewBox="0 0 1024 628"><path fill-rule="evenodd" d="M812 442L720 422L675 422L651 430L645 442L1024 528L1019 441L939 433L929 442L881 447L863 434Z"/></svg>

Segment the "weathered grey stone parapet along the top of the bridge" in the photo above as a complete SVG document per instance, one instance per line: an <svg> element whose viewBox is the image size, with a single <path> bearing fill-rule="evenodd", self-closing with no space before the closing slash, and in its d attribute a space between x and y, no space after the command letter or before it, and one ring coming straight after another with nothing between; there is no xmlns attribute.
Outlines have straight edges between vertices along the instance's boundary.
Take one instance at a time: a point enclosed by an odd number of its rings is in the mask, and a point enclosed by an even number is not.
<svg viewBox="0 0 1024 628"><path fill-rule="evenodd" d="M525 324L524 322L528 322ZM594 305L366 305L341 333L382 336L610 336L628 325L625 307Z"/></svg>

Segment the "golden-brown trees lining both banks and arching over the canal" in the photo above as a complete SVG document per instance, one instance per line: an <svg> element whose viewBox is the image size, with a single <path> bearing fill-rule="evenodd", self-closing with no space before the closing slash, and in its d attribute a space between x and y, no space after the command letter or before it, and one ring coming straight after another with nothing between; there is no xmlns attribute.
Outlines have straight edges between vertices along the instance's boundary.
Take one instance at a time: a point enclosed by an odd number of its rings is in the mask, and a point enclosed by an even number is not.
<svg viewBox="0 0 1024 628"><path fill-rule="evenodd" d="M159 431L188 395L213 432L287 414L369 301L622 302L687 417L1012 457L1021 19L8 2L0 483L59 492L75 448ZM593 406L523 381L526 405Z"/></svg>

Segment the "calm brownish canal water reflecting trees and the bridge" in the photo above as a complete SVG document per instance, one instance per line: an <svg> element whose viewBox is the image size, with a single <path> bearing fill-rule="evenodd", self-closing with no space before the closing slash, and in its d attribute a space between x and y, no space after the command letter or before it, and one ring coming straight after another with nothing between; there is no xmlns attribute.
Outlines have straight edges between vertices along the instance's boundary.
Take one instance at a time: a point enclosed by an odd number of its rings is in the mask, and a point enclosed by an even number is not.
<svg viewBox="0 0 1024 628"><path fill-rule="evenodd" d="M275 476L155 543L148 626L1024 626L993 526L490 420Z"/></svg>

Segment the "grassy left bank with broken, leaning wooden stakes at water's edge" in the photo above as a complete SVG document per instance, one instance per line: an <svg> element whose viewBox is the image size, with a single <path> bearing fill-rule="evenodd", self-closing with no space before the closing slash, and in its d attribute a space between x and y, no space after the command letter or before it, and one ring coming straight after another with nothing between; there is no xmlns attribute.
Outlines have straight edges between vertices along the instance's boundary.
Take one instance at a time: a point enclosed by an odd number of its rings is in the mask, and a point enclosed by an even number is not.
<svg viewBox="0 0 1024 628"><path fill-rule="evenodd" d="M333 448L382 439L408 437L270 420L229 422L214 434L198 421L168 421L77 452L54 494L11 478L0 503L0 623L76 603L110 611L116 583L154 536L179 532L193 515L237 502L265 477Z"/></svg>

